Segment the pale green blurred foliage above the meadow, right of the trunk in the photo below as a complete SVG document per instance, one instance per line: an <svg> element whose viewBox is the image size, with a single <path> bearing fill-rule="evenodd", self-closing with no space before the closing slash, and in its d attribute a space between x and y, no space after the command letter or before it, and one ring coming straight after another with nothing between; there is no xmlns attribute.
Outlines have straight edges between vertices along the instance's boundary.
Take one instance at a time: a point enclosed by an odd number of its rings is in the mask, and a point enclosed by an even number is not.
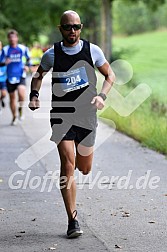
<svg viewBox="0 0 167 252"><path fill-rule="evenodd" d="M131 3L127 5L127 2ZM117 0L113 5L114 33L132 35L167 26L167 1ZM156 8L156 9L155 9Z"/></svg>

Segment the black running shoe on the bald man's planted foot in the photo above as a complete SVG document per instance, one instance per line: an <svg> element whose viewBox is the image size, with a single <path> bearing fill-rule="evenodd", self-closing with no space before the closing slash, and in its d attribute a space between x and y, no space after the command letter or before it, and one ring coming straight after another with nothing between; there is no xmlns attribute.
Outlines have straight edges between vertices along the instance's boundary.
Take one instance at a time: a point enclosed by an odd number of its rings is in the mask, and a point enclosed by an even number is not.
<svg viewBox="0 0 167 252"><path fill-rule="evenodd" d="M73 212L75 216L68 223L67 237L76 238L83 234L83 231L80 229L79 222L75 219L77 216L77 210Z"/></svg>

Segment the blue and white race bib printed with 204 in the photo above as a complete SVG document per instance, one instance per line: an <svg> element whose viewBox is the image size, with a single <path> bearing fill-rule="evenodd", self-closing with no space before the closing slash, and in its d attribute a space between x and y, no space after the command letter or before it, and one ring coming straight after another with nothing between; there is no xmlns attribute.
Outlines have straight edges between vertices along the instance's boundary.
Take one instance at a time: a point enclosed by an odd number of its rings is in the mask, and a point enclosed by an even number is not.
<svg viewBox="0 0 167 252"><path fill-rule="evenodd" d="M69 70L68 72L60 72L54 75L55 85L60 84L64 92L71 92L89 85L88 76L85 67Z"/></svg>

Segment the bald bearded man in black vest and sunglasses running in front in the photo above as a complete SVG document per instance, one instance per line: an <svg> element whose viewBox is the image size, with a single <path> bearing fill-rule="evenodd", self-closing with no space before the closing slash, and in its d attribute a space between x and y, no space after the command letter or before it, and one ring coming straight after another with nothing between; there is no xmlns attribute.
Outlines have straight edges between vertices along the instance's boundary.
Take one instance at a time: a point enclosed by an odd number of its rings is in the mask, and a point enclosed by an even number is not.
<svg viewBox="0 0 167 252"><path fill-rule="evenodd" d="M68 215L69 238L83 233L76 218L74 170L77 167L85 175L91 170L97 126L96 110L104 107L104 100L114 80L114 74L101 49L80 39L82 27L76 12L69 10L63 13L59 25L63 40L55 43L43 55L37 75L31 82L29 104L31 110L39 108L38 91L43 73L53 67L51 140L57 144L60 155L60 189ZM98 95L94 65L105 77ZM62 181L63 176L66 180Z"/></svg>

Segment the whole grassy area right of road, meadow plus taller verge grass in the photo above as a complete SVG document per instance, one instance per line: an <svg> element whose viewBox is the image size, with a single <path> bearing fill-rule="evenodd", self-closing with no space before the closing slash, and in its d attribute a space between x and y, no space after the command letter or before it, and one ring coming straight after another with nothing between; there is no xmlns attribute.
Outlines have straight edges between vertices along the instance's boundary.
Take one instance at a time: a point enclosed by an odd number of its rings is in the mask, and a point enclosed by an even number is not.
<svg viewBox="0 0 167 252"><path fill-rule="evenodd" d="M114 85L124 96L140 83L147 83L151 96L131 115L122 117L112 108L102 116L115 122L119 131L140 141L142 145L167 154L167 32L152 32L131 37L114 38L114 48L127 48L123 59L133 67L134 78L124 86ZM101 82L101 81L100 81ZM107 105L110 104L110 95Z"/></svg>

